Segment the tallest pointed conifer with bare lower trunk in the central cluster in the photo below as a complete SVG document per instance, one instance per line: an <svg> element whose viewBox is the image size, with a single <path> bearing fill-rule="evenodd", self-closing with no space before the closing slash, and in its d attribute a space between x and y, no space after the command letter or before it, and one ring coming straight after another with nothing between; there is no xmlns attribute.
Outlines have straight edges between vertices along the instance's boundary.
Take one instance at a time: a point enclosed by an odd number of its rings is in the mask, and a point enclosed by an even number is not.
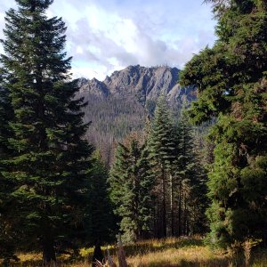
<svg viewBox="0 0 267 267"><path fill-rule="evenodd" d="M155 219L157 222L154 223L156 225L155 231L157 231L158 238L164 238L167 236L168 203L169 201L172 203L173 199L174 182L170 170L175 158L174 125L171 121L165 95L158 98L155 117L150 130L149 147L153 170L157 176L157 186L155 188L157 201L155 204L157 214ZM171 184L170 189L169 183ZM171 228L173 227L171 226Z"/></svg>

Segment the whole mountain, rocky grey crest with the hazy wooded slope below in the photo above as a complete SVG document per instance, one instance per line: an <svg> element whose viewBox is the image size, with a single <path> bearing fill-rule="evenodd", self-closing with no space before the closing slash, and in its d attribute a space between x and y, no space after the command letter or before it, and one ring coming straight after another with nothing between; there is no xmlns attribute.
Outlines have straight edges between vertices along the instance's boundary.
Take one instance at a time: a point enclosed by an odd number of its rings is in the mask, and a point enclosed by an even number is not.
<svg viewBox="0 0 267 267"><path fill-rule="evenodd" d="M166 66L145 68L129 66L115 71L104 81L79 79L77 97L85 97L85 122L92 121L87 139L100 148L107 165L112 161L115 141L126 134L140 131L148 114L153 115L156 101L166 93L174 110L182 108L184 100L196 98L191 87L181 87L179 69Z"/></svg>

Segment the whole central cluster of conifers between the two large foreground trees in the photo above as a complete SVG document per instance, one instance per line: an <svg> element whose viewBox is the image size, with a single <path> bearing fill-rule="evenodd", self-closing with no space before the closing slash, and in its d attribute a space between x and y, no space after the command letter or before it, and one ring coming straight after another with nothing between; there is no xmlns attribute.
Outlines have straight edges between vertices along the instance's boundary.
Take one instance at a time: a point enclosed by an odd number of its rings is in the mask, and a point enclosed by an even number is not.
<svg viewBox="0 0 267 267"><path fill-rule="evenodd" d="M117 145L109 190L125 241L206 232L199 143L187 117L175 122L170 110L162 95L145 133Z"/></svg>

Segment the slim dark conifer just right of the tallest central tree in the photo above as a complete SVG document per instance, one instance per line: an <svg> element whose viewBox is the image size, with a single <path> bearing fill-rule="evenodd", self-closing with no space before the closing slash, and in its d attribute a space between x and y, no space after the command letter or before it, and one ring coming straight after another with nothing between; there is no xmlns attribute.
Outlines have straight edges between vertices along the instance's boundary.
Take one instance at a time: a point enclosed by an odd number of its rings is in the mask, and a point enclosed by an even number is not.
<svg viewBox="0 0 267 267"><path fill-rule="evenodd" d="M185 110L182 109L177 125L177 159L175 161L175 175L180 222L179 234L189 235L206 231L205 210L206 172L201 162L203 156L199 148L196 131L189 123Z"/></svg>

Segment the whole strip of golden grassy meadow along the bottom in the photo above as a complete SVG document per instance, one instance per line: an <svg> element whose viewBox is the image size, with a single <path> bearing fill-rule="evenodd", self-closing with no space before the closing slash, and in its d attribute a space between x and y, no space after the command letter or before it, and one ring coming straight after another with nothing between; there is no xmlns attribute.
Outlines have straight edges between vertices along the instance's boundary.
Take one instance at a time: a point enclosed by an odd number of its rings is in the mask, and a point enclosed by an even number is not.
<svg viewBox="0 0 267 267"><path fill-rule="evenodd" d="M102 247L103 251L107 247ZM109 246L109 253L117 263L115 246ZM211 250L203 239L150 239L134 245L125 246L125 254L129 266L267 266L267 249L250 248L247 250L247 263L244 250L235 253L234 250ZM57 266L85 267L91 266L93 247L82 248L79 255L59 255ZM20 262L12 266L41 266L42 255L39 253L18 254ZM117 264L118 266L118 264Z"/></svg>

